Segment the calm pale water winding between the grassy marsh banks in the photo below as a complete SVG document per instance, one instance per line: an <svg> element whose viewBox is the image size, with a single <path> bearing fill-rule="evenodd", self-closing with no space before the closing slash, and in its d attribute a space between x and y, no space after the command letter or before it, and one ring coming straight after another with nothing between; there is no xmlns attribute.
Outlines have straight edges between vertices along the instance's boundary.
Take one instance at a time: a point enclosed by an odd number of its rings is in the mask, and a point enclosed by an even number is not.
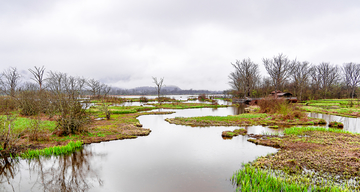
<svg viewBox="0 0 360 192"><path fill-rule="evenodd" d="M90 144L69 156L3 160L0 191L235 191L230 181L233 172L242 163L277 149L250 143L247 136L231 140L221 137L222 131L238 127L199 128L164 120L176 116L226 116L238 114L239 110L169 110L176 113L140 116L143 127L152 130L149 136ZM325 116L318 117L328 121ZM330 119L343 121L346 130L360 132L356 118ZM255 134L279 131L263 126L246 129Z"/></svg>

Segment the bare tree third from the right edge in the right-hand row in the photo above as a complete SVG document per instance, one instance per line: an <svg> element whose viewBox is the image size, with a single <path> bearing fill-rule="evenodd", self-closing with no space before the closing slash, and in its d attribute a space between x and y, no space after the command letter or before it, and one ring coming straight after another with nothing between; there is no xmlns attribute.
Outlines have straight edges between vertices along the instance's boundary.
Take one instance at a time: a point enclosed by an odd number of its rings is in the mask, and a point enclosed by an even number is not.
<svg viewBox="0 0 360 192"><path fill-rule="evenodd" d="M308 83L310 77L311 66L310 63L307 61L300 62L295 60L293 63L294 68L292 70L291 77L294 81L294 94L296 94L299 100L301 100L303 90Z"/></svg>

